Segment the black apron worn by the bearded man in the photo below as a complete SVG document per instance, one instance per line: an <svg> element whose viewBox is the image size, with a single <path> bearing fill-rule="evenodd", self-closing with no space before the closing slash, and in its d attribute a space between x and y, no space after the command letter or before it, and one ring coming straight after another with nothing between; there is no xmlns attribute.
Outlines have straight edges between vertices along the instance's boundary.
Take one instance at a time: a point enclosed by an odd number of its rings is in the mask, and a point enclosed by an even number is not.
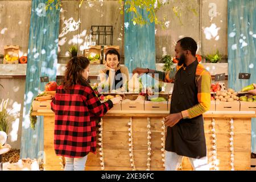
<svg viewBox="0 0 256 182"><path fill-rule="evenodd" d="M185 70L180 68L177 71L170 114L187 110L199 103L195 80L198 64L197 61L194 61ZM206 156L203 115L192 119L181 119L173 127L168 126L165 149L189 158L199 159Z"/></svg>

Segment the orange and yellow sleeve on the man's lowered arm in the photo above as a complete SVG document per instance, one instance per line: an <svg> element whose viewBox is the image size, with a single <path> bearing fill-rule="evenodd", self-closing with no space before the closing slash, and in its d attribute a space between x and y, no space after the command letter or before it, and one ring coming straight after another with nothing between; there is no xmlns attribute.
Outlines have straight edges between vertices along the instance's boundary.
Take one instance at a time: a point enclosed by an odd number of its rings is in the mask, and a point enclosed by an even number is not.
<svg viewBox="0 0 256 182"><path fill-rule="evenodd" d="M199 104L181 111L184 119L195 118L210 109L210 84L212 78L210 73L204 69L203 65L198 64L196 68L196 83L197 83L197 99Z"/></svg>

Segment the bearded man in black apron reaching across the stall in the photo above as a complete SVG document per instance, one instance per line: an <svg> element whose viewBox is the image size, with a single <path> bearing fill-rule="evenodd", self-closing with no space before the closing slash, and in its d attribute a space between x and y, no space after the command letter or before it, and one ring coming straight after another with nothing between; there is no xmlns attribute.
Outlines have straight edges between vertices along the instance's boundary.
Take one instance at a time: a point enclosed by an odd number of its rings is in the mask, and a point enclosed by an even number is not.
<svg viewBox="0 0 256 182"><path fill-rule="evenodd" d="M159 72L136 68L133 73L151 73L164 82L174 81L170 115L165 119L166 170L176 170L187 156L195 170L209 170L203 113L210 108L209 72L196 59L197 44L192 38L180 39L175 46L177 68ZM156 75L158 74L158 75Z"/></svg>

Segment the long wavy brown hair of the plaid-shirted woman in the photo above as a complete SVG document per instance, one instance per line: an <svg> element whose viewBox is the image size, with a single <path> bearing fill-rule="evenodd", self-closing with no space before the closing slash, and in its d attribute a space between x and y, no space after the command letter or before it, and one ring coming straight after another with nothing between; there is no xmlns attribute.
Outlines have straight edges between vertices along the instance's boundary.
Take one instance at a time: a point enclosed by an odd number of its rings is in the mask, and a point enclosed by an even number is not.
<svg viewBox="0 0 256 182"><path fill-rule="evenodd" d="M82 72L88 67L90 61L83 56L72 57L66 65L66 71L64 74L63 88L68 90L72 85L80 84L89 86L87 80L82 77Z"/></svg>

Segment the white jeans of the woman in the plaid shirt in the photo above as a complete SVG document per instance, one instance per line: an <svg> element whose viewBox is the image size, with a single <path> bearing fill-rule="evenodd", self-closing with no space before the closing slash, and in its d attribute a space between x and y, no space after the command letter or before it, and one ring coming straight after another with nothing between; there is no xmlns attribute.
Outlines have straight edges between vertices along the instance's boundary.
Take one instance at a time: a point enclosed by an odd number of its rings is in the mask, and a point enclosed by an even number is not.
<svg viewBox="0 0 256 182"><path fill-rule="evenodd" d="M84 171L87 156L83 158L67 158L65 157L65 168L64 171Z"/></svg>

